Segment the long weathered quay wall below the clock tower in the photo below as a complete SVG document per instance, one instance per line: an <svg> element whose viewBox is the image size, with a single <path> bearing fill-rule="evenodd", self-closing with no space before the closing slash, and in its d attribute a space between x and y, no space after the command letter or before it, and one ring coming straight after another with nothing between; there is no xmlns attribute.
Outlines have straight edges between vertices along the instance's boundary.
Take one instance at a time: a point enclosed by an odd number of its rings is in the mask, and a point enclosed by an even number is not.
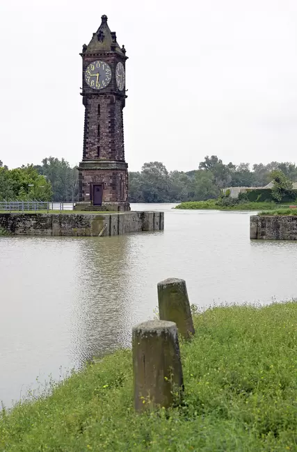
<svg viewBox="0 0 297 452"><path fill-rule="evenodd" d="M115 236L162 231L164 213L0 213L0 228L13 235Z"/></svg>

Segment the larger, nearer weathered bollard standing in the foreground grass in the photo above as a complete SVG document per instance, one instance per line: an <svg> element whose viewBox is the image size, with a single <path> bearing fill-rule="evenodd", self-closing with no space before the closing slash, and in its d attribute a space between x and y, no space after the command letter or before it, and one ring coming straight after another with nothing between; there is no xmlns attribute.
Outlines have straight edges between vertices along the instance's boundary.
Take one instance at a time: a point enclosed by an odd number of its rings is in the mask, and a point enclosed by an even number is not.
<svg viewBox="0 0 297 452"><path fill-rule="evenodd" d="M134 407L170 407L175 392L182 395L183 376L177 326L147 321L132 330Z"/></svg>

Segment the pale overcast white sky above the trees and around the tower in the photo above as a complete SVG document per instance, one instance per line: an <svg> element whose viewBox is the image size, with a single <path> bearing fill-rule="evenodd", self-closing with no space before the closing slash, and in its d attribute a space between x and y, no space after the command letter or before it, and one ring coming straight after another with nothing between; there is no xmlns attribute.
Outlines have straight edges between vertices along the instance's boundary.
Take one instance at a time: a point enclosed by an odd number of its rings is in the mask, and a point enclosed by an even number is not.
<svg viewBox="0 0 297 452"><path fill-rule="evenodd" d="M296 0L1 0L0 160L82 159L82 45L127 49L129 170L297 163Z"/></svg>

